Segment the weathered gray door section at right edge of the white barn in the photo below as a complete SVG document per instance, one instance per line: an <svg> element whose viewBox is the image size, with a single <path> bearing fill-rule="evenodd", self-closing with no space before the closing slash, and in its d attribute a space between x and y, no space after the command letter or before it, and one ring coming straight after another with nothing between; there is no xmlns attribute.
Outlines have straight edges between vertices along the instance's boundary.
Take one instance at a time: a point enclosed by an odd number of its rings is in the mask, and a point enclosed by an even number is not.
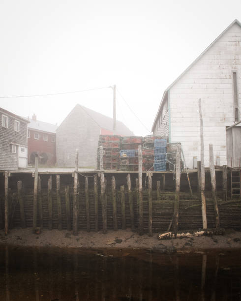
<svg viewBox="0 0 241 301"><path fill-rule="evenodd" d="M239 167L241 158L241 126L234 126L226 130L227 165Z"/></svg>

